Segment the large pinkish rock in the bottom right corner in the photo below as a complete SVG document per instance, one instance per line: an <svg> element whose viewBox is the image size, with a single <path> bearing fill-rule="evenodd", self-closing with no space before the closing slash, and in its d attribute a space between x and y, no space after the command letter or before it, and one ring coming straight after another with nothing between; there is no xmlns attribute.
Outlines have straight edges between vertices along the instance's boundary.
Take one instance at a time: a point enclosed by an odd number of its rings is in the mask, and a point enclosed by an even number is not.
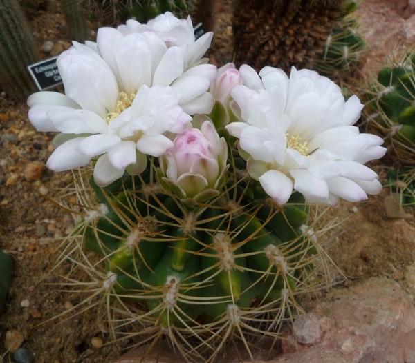
<svg viewBox="0 0 415 363"><path fill-rule="evenodd" d="M415 362L415 307L392 280L374 278L336 290L308 317L313 317L311 332L320 331L321 340L302 344L288 333L284 354L270 362Z"/></svg>

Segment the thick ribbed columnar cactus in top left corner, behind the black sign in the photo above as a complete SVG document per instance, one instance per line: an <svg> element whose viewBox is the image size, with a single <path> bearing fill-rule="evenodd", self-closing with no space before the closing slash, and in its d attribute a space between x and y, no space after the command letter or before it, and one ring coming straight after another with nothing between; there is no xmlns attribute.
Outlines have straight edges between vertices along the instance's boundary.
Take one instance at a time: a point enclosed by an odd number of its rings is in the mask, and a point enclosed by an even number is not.
<svg viewBox="0 0 415 363"><path fill-rule="evenodd" d="M36 86L27 66L39 60L28 23L14 0L0 2L0 89L24 100Z"/></svg>

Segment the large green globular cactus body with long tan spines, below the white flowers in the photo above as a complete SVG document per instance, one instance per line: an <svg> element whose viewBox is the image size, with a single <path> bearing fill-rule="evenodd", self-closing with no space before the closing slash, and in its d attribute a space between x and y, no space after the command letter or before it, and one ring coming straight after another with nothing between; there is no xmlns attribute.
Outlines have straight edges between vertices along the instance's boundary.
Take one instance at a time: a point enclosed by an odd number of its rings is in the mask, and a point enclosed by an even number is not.
<svg viewBox="0 0 415 363"><path fill-rule="evenodd" d="M278 337L304 293L333 283L326 230L314 229L322 214L298 194L277 206L231 159L223 193L192 205L160 188L154 164L105 188L75 179L79 204L94 207L66 255L93 276L114 338L167 337L185 360L211 362L233 337L248 352L252 337Z"/></svg>

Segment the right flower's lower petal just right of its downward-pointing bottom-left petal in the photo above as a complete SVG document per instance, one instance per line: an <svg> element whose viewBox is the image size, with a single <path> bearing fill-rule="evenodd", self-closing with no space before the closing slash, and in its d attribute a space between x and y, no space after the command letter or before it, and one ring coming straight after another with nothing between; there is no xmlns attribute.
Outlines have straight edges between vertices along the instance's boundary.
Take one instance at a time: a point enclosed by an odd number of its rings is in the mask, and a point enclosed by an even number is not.
<svg viewBox="0 0 415 363"><path fill-rule="evenodd" d="M304 197L317 197L326 199L329 197L329 187L324 179L315 177L308 170L296 169L290 171L294 178L294 188L302 193Z"/></svg>

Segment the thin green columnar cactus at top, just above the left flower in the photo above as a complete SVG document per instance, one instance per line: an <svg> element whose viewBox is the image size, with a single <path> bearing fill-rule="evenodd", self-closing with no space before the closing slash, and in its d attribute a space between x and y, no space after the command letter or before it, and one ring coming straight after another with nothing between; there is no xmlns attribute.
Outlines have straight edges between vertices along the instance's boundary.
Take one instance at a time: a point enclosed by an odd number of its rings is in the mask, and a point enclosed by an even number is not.
<svg viewBox="0 0 415 363"><path fill-rule="evenodd" d="M66 20L68 37L75 41L88 39L88 26L84 9L79 0L60 0L62 12Z"/></svg>

